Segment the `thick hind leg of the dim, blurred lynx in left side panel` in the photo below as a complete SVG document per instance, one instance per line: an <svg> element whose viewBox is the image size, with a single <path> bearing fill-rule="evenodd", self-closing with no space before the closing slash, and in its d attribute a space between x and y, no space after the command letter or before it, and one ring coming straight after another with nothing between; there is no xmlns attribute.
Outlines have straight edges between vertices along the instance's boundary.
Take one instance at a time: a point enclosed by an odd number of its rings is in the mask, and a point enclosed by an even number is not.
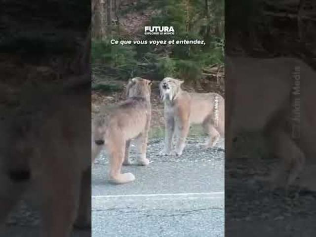
<svg viewBox="0 0 316 237"><path fill-rule="evenodd" d="M58 160L55 156L49 156L49 160ZM70 237L79 207L80 171L69 171L68 165L60 159L58 161L60 165L52 162L47 164L43 172L45 177L39 181L42 191L43 237ZM50 165L56 168L48 168Z"/></svg>

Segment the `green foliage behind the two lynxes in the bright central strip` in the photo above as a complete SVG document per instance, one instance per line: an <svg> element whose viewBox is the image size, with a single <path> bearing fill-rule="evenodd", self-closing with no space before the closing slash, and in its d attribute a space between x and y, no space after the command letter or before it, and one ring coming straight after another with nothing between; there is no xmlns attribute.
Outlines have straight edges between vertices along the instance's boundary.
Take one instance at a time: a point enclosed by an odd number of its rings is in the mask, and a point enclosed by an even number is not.
<svg viewBox="0 0 316 237"><path fill-rule="evenodd" d="M151 2L151 4L148 4ZM106 64L116 78L151 75L155 79L201 78L203 67L224 62L224 0L141 0L127 11L158 10L148 24L173 26L172 36L141 36L139 40L204 40L205 45L113 45L110 36L92 42L92 62ZM118 36L119 37L119 36ZM117 37L116 37L117 38Z"/></svg>

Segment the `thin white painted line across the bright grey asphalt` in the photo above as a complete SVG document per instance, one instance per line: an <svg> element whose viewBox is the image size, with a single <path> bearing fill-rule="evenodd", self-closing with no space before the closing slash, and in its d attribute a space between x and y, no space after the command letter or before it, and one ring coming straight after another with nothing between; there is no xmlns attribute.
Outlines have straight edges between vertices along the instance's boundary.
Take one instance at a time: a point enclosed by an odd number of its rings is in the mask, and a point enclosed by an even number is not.
<svg viewBox="0 0 316 237"><path fill-rule="evenodd" d="M118 198L118 197L205 197L205 196L221 196L224 192L212 192L212 193L180 193L180 194L129 194L129 195L104 195L104 196L92 196L93 199L104 198Z"/></svg>

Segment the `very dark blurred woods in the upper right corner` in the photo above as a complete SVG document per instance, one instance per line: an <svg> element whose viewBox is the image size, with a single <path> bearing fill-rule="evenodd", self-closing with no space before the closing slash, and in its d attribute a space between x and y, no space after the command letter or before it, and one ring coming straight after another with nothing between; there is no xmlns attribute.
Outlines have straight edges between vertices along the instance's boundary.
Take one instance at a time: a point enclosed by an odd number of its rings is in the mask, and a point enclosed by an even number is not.
<svg viewBox="0 0 316 237"><path fill-rule="evenodd" d="M316 68L314 0L226 1L228 55L295 56Z"/></svg>

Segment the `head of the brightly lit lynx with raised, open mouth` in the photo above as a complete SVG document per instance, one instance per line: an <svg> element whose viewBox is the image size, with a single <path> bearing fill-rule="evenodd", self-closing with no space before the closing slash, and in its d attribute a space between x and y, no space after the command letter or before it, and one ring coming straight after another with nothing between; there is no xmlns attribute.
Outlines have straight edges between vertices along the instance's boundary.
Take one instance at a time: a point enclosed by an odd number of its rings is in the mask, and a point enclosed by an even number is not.
<svg viewBox="0 0 316 237"><path fill-rule="evenodd" d="M180 91L183 80L164 78L159 83L160 98L162 101L172 101Z"/></svg>

